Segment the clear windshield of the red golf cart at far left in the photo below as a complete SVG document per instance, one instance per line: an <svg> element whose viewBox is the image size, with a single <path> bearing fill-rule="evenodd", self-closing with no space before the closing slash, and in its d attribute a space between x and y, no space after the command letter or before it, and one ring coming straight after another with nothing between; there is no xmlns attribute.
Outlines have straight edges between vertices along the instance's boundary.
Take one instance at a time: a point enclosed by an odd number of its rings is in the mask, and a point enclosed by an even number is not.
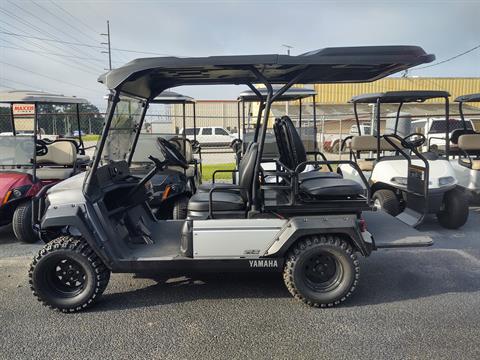
<svg viewBox="0 0 480 360"><path fill-rule="evenodd" d="M0 136L0 166L32 166L35 151L33 136Z"/></svg>

